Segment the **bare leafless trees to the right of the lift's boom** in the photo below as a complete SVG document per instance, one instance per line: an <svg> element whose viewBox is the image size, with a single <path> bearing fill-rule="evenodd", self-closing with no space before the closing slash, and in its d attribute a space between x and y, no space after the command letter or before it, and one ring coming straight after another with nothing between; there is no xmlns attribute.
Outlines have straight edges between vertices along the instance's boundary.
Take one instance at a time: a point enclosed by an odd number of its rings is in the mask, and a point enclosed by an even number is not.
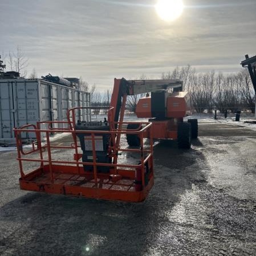
<svg viewBox="0 0 256 256"><path fill-rule="evenodd" d="M214 71L198 73L188 65L163 73L161 78L182 80L183 91L190 93L198 113L213 109L221 112L224 109L255 111L255 92L247 68L230 74Z"/></svg>

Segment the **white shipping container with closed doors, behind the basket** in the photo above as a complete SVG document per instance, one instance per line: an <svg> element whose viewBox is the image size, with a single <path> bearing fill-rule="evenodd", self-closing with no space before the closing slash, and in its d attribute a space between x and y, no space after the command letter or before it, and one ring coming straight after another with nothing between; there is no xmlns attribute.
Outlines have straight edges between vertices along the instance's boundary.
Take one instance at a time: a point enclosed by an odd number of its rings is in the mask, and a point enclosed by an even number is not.
<svg viewBox="0 0 256 256"><path fill-rule="evenodd" d="M14 127L37 121L66 121L68 108L90 104L90 93L75 88L42 79L0 79L0 140L14 139ZM90 111L80 111L77 117L89 121ZM33 139L35 135L24 136Z"/></svg>

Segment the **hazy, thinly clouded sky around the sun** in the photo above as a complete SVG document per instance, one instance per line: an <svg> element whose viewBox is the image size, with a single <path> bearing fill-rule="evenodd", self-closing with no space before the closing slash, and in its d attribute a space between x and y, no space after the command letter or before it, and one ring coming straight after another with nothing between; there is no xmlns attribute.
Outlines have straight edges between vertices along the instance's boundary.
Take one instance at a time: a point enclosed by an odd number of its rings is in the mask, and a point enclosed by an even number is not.
<svg viewBox="0 0 256 256"><path fill-rule="evenodd" d="M256 55L256 0L183 0L172 22L157 0L1 0L0 54L17 46L27 72L82 76L99 90L114 78L161 78L190 64L197 72L236 72Z"/></svg>

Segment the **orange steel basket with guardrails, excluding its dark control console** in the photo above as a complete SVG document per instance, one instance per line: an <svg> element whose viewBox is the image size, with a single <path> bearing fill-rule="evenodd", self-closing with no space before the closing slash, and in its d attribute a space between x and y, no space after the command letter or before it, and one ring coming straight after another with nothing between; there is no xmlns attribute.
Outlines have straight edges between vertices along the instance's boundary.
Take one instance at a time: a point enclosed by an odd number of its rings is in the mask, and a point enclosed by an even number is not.
<svg viewBox="0 0 256 256"><path fill-rule="evenodd" d="M125 100L125 96L124 99ZM123 104L124 105L124 104ZM19 185L23 190L35 192L46 192L54 194L68 194L72 196L82 196L104 200L120 200L140 202L145 200L153 186L153 140L152 123L136 122L140 127L136 130L123 129L124 107L121 107L120 121L113 121L113 107L108 109L108 122L110 131L81 131L75 130L76 111L80 109L92 109L92 107L76 107L68 110L68 121L44 121L36 125L28 124L21 128L15 128L17 141L17 151L19 169L21 177ZM99 109L99 108L97 108ZM135 122L133 122L135 123ZM42 124L48 125L42 129ZM55 125L68 128L54 128ZM32 149L25 151L22 145L22 133L35 133L36 143L32 144ZM68 146L52 145L50 135L52 133L69 133L72 135L73 143ZM79 153L78 133L90 135L92 141L92 162L80 161L82 154ZM95 134L110 135L109 156L112 163L96 162ZM140 148L121 148L120 137L122 134L136 134L140 137ZM42 143L42 135L46 136L46 143ZM145 147L143 139L149 134L149 147ZM74 161L54 160L55 149L74 150ZM139 155L139 164L120 164L118 160L119 152L131 152ZM37 158L35 158L35 155ZM40 167L25 174L23 162L38 162ZM83 169L83 165L92 165L93 171L88 172ZM109 173L101 173L100 166L109 166ZM147 166L147 168L146 168ZM147 173L145 173L147 170ZM147 178L146 178L147 176ZM136 179L141 181L138 187Z"/></svg>

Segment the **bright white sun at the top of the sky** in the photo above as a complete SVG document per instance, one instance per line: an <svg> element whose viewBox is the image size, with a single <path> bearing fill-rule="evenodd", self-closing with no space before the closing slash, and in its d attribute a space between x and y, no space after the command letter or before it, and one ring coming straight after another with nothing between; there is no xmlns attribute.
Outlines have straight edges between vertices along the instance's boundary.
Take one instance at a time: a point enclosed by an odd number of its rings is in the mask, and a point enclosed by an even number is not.
<svg viewBox="0 0 256 256"><path fill-rule="evenodd" d="M182 0L159 0L156 5L156 12L164 21L174 21L180 17L183 11Z"/></svg>

